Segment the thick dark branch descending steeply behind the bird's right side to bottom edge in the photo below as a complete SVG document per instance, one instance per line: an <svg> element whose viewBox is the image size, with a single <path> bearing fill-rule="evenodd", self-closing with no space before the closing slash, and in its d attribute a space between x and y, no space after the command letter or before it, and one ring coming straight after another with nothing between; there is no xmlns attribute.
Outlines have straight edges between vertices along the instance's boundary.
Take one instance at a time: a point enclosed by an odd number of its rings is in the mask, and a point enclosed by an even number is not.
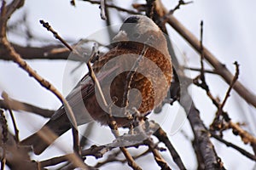
<svg viewBox="0 0 256 170"><path fill-rule="evenodd" d="M168 17L165 17L165 15L168 16L168 11L166 10L166 8L164 7L164 5L162 3L158 3L158 6L156 7L158 8L159 12L159 17L155 20L160 20L160 18L163 19L163 23L161 23L159 26L161 28L161 30L166 31L166 27L164 27L164 22L165 19L169 22L170 19ZM170 16L172 16L172 14L170 14ZM164 28L162 28L164 27ZM167 32L165 32L167 33ZM169 40L169 38L167 38L167 40ZM177 70L174 71L174 73L176 72L177 75L177 80L184 77L184 72L182 70L180 70L179 68L179 63L178 63L178 59L177 59L177 55L174 53L174 50L172 48L172 42L168 41L169 43L169 53L172 56L172 61L174 65L177 65ZM174 74L175 75L175 74ZM218 155L216 153L216 151L214 150L213 144L211 142L211 140L209 139L209 136L207 133L205 133L207 131L204 123L201 121L201 116L200 116L200 111L197 110L197 108L195 107L195 104L193 102L193 99L191 99L191 96L189 95L188 92L188 86L189 83L187 82L187 80L184 81L185 83L181 83L180 86L178 86L180 89L180 95L178 95L178 101L180 103L180 105L183 106L184 111L186 112L188 119L189 119L189 123L190 126L193 130L194 136L195 136L195 144L198 147L200 154L202 156L202 163L205 165L206 169L216 169L218 167L221 167L222 169L224 168L220 163L219 163L219 158ZM171 87L172 88L172 87Z"/></svg>

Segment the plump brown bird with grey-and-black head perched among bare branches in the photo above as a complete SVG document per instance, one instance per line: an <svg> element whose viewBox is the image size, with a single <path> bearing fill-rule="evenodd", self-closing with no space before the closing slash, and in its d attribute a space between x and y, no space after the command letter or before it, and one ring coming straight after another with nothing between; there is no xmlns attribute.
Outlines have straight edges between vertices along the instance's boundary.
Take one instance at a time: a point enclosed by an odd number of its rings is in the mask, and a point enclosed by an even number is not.
<svg viewBox="0 0 256 170"><path fill-rule="evenodd" d="M117 127L128 127L135 112L147 116L160 105L171 86L172 59L166 37L147 16L129 16L110 47L94 61L92 69L103 98L111 107L104 105L100 91L86 74L66 97L78 125L92 121L108 125L114 120ZM31 145L39 155L70 128L66 108L61 105L38 132L20 144ZM45 141L49 135L47 130L55 135Z"/></svg>

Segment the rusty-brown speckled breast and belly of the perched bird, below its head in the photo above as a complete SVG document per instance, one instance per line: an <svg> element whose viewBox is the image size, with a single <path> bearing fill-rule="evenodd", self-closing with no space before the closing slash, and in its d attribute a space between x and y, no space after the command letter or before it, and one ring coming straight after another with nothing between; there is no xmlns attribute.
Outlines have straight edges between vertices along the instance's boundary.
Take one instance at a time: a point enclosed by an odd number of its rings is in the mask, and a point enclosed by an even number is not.
<svg viewBox="0 0 256 170"><path fill-rule="evenodd" d="M152 111L165 99L172 81L170 55L139 42L120 44L94 66L98 75L117 68L101 81L108 105L115 105L113 114L134 108L142 114Z"/></svg>

